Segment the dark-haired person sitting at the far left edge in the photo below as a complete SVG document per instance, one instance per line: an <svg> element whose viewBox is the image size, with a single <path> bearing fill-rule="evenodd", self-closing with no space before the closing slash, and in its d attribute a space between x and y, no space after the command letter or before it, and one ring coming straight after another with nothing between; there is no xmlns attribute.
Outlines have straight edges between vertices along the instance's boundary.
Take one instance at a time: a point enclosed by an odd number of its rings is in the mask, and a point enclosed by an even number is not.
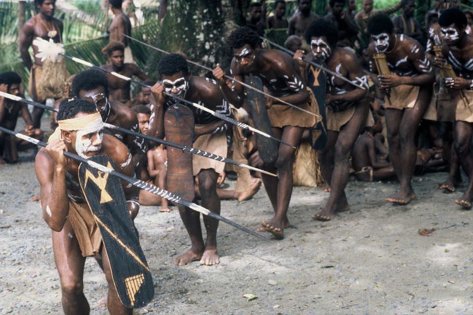
<svg viewBox="0 0 473 315"><path fill-rule="evenodd" d="M15 96L21 96L20 93L21 77L16 72L8 71L0 74L0 91ZM14 130L20 114L23 116L26 127L21 133L40 140L43 132L39 128L33 127L31 114L28 111L28 105L19 101L11 100L0 96L0 126ZM26 140L5 134L0 131L0 165L14 163L18 161L18 151L35 148L36 146Z"/></svg>

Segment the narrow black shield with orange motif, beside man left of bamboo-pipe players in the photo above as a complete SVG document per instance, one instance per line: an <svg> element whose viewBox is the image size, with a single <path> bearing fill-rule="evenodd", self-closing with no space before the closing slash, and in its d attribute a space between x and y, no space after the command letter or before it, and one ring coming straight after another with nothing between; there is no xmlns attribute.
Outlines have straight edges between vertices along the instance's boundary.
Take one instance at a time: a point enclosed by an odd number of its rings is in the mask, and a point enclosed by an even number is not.
<svg viewBox="0 0 473 315"><path fill-rule="evenodd" d="M314 62L325 66L323 61L314 60ZM315 95L315 99L319 106L319 114L322 117L322 120L317 123L315 128L309 129L309 142L315 150L322 150L327 144L327 118L325 114L327 76L325 72L312 64L309 64L307 84Z"/></svg>

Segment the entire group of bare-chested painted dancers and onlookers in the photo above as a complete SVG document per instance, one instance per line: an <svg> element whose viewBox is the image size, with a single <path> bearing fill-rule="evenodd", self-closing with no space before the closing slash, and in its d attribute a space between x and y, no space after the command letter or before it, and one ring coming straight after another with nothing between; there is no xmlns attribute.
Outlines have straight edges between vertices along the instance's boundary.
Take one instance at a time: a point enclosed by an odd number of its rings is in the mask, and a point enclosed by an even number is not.
<svg viewBox="0 0 473 315"><path fill-rule="evenodd" d="M361 181L399 181L398 191L386 200L407 204L415 198L411 180L419 159L424 170L428 167L449 169L447 180L439 184L440 189L449 191L462 185L462 167L469 177L469 184L462 198L455 202L471 208L473 37L466 32L467 16L456 1L439 1L438 22L428 29L424 49L415 35L417 24L411 20L411 2L403 0L396 5L393 10L404 8L405 15L400 18L401 22L395 19L394 23L384 14L394 11L372 13L372 0L363 0L364 12L357 15L344 9L344 0L330 0L332 12L326 18L310 12L310 0L299 0L299 10L287 23L282 19L285 2L277 0L275 14L267 24L254 17L253 11L256 10L258 16L261 5L253 5L247 21L250 27L238 27L226 38L233 54L229 69L224 70L217 64L212 72L213 78L192 75L182 55L169 54L159 61L159 77L153 81L135 64L126 62L127 55L130 55L127 53L128 39L120 34L130 34L129 25L126 15L121 12L121 3L110 1L116 19L110 28L110 43L103 49L109 63L100 67L105 71L89 69L73 75L62 93L53 96L58 109L57 115L52 115L55 130L48 138L48 145L41 148L35 158L43 218L53 230L54 257L60 275L64 312L90 312L83 293L83 272L86 257L93 256L109 285L106 301L109 312L132 314L132 309L121 302L117 293L102 235L81 189L80 162L67 158L64 152L82 158L107 156L118 165L120 173L163 189L167 186L168 166L176 171L176 167L179 168L176 165L184 163L184 160L178 163L172 160L173 155L169 154L172 150L163 144L151 144L139 136L107 128L108 124L160 139L175 137L167 133L167 111L186 107L187 111L181 109L181 117L174 118L177 121L186 115L193 117L191 127L182 129L185 131L183 137L187 136L186 141L192 147L221 157L240 158L266 171L255 174L247 169L236 169L238 187L232 191L219 189L225 178L225 163L193 156L189 160L192 172L179 170L191 178L191 188L187 187L188 182L183 184L189 193L189 201L199 197L204 208L220 214L221 199L247 200L263 182L274 215L262 221L258 231L269 232L275 239L284 239L284 231L290 225L288 209L294 186L296 148L308 137L307 131L317 126L322 126L319 129L325 140L324 145L317 148L317 161L311 162L320 163L329 197L323 209L312 216L313 219L329 221L339 212L349 209L345 187L350 172ZM35 3L39 13L21 31L20 53L25 65L31 69L30 94L34 101L44 103L42 72L46 69L41 58L37 57L39 49L34 39L40 37L60 43L63 24L53 17L54 0L37 0ZM259 14L261 16L261 11ZM357 26L354 21L362 24ZM263 48L258 27L264 30L268 25L288 28L289 35L295 35L288 37L286 42L293 51L292 55ZM400 32L399 25L410 27L410 32ZM360 30L369 35L371 43L358 49L357 56L350 47L350 38ZM30 46L33 46L35 56L33 61L28 53ZM320 95L314 95L310 89L315 85L315 70L320 70L315 62L323 65L325 73L327 89L316 91L326 94L322 102L316 100ZM62 71L56 70L56 73ZM138 96L131 99L130 82L110 72L125 77L135 76L144 81L146 87L143 86ZM248 114L251 110L248 109L243 84L248 77L261 79L272 135L286 143L277 143L277 155L270 161L259 156L258 150L262 148L255 144L253 133L242 132L226 120L189 105L197 103L220 116L251 125L259 118ZM64 81L57 85L64 86ZM0 91L23 96L20 76L14 72L2 73ZM0 126L15 129L21 112L26 123L21 133L42 139L42 111L40 107L34 107L31 114L27 104L0 97ZM439 134L431 140L437 145L436 152L419 148L418 131L423 124L427 126L426 137L435 135L436 131ZM387 147L381 133L382 125L386 128ZM34 147L22 138L0 131L1 164L18 160L19 150ZM429 160L434 162L429 164ZM160 205L161 211L169 211L167 199L125 182L121 186L132 220L138 215L140 205ZM204 215L206 233L203 233L200 214L188 207L177 206L191 247L176 256L174 263L179 266L192 261L204 265L218 264L218 220Z"/></svg>

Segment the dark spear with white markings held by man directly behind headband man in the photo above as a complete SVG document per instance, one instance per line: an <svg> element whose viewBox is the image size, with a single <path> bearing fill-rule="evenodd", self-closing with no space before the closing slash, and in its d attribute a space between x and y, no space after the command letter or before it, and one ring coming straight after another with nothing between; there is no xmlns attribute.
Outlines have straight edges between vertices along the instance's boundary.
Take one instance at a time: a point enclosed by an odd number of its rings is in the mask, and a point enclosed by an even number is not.
<svg viewBox="0 0 473 315"><path fill-rule="evenodd" d="M33 106L37 106L37 107L47 109L47 110L50 110L50 111L53 111L53 112L58 112L58 110L54 107L44 105L44 104L41 104L41 103L37 103L37 102L34 102L32 100L29 100L29 99L26 99L26 98L23 98L23 97L20 97L20 96L11 95L11 94L1 92L1 91L0 91L0 96L6 97L6 98L9 98L9 99L18 101L18 102L31 104ZM103 126L105 126L108 129L118 130L118 131L130 134L130 135L134 135L136 137L140 137L140 138L143 138L143 139L146 139L146 140L149 140L149 141L161 143L161 144L164 144L165 146L177 148L177 149L180 149L182 151L189 152L189 153L192 153L192 154L196 154L196 155L199 155L199 156L202 156L202 157L205 157L205 158L212 158L212 159L224 162L224 163L229 163L229 164L233 164L233 165L236 165L236 166L248 168L252 171L262 172L262 173L265 173L265 174L268 174L268 175L271 175L271 176L277 176L276 174L270 173L268 171L265 171L265 170L262 170L262 169L259 169L259 168L256 168L256 167L253 167L253 166L250 166L250 165L242 164L240 162L234 161L233 159L224 158L222 156L219 156L219 155L216 155L216 154L213 154L213 153L209 153L209 152L206 152L206 151L203 151L203 150L194 149L194 148L188 147L188 146L183 146L183 145L180 145L178 143L166 141L166 140L163 140L163 139L160 139L160 138L149 136L147 134L135 132L133 130L129 130L129 129L122 128L122 127L115 126L115 125L110 125L110 124L107 124L107 123L103 123Z"/></svg>

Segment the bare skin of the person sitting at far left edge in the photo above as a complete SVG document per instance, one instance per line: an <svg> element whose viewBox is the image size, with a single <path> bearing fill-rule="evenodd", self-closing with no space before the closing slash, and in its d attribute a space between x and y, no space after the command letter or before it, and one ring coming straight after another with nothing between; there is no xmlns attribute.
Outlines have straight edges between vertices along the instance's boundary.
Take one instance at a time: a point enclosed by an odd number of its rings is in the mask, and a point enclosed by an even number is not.
<svg viewBox="0 0 473 315"><path fill-rule="evenodd" d="M21 95L20 93L19 84L12 84L10 85L10 87L8 87L6 84L0 84L0 91L11 95L23 97L23 95ZM43 137L43 132L41 131L41 129L35 129L33 127L33 121L30 115L30 111L28 110L28 105L0 96L0 126L10 130L14 130L20 113L26 124L25 130L21 131L21 133L34 139L40 140ZM11 136L3 133L3 131L0 131L0 145L2 145L6 137ZM15 137L14 139L17 144L18 151L23 151L34 147L34 144L29 141L22 140L17 137ZM0 152L3 153L3 150L9 149L1 149ZM1 157L0 154L0 166L6 164L6 161Z"/></svg>

